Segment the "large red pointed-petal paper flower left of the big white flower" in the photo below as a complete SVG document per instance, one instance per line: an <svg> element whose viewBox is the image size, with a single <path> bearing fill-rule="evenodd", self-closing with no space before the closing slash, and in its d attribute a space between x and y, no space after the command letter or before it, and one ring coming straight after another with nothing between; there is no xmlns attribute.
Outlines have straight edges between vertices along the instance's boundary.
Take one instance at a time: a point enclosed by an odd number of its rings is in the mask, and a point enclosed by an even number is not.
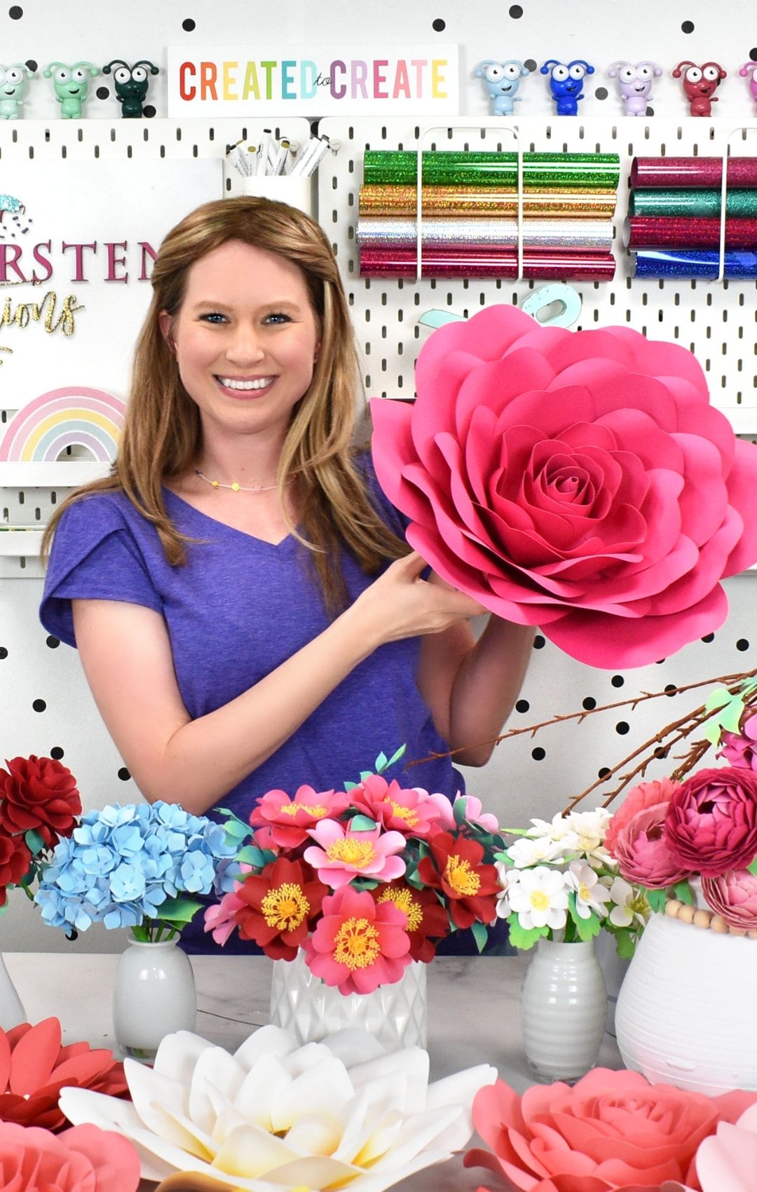
<svg viewBox="0 0 757 1192"><path fill-rule="evenodd" d="M88 1043L61 1047L57 1018L0 1030L1 1120L62 1130L66 1118L58 1109L58 1094L64 1085L112 1097L129 1092L123 1064L113 1060L112 1051L93 1050Z"/></svg>

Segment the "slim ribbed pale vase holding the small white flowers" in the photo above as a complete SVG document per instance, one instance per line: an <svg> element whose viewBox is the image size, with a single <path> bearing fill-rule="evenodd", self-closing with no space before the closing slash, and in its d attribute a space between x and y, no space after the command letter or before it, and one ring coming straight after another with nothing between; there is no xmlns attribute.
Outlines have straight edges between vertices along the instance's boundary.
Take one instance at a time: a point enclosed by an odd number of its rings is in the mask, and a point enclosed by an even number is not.
<svg viewBox="0 0 757 1192"><path fill-rule="evenodd" d="M540 939L521 989L526 1058L539 1080L573 1081L597 1061L607 995L592 943Z"/></svg>

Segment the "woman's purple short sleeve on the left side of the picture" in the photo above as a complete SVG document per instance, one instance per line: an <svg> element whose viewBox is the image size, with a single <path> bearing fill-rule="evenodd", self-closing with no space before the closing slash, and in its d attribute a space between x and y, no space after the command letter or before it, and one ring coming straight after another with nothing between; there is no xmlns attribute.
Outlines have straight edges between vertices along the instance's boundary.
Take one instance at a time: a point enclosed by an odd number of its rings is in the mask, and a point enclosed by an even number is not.
<svg viewBox="0 0 757 1192"><path fill-rule="evenodd" d="M70 505L55 532L39 619L45 629L76 645L73 600L117 600L162 613L135 536L118 508L100 495Z"/></svg>

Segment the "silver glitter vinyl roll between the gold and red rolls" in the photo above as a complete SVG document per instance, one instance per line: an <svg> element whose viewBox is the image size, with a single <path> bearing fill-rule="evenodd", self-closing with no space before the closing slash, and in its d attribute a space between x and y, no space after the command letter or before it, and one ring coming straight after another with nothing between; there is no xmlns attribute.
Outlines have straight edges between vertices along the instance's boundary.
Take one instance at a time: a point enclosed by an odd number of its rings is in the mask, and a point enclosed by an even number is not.
<svg viewBox="0 0 757 1192"><path fill-rule="evenodd" d="M517 219L424 219L423 248L467 244L470 248L517 249ZM360 216L355 240L361 248L411 248L417 244L415 219ZM609 253L613 225L600 219L525 219L525 248L560 248L566 253Z"/></svg>

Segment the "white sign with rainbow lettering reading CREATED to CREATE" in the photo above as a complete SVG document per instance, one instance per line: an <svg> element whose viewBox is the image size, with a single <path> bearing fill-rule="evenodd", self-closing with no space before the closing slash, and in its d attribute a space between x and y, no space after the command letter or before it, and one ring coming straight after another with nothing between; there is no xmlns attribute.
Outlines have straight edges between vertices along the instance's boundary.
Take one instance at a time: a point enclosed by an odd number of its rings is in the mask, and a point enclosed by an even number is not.
<svg viewBox="0 0 757 1192"><path fill-rule="evenodd" d="M168 114L459 112L457 45L168 50Z"/></svg>

